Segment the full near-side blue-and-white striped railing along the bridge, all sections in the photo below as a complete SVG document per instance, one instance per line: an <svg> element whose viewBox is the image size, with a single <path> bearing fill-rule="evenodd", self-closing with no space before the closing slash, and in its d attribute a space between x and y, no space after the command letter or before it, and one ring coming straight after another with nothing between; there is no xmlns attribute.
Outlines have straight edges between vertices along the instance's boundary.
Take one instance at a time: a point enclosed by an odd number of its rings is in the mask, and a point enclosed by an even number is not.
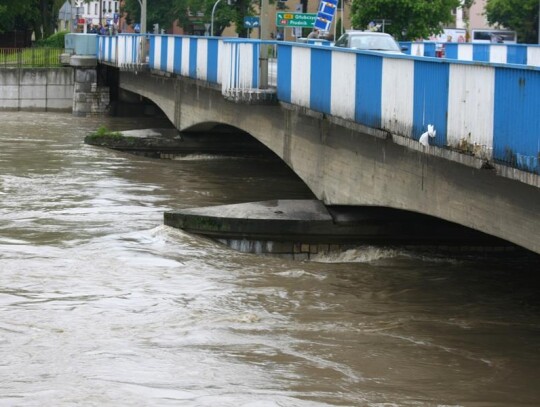
<svg viewBox="0 0 540 407"><path fill-rule="evenodd" d="M100 60L126 65L138 58L128 38L117 43L114 38L100 38ZM259 60L267 42L169 35L149 39L148 64L154 71L221 85L226 97L261 87ZM283 41L272 45L278 50L280 101L415 142L431 124L437 132L430 139L433 146L540 174L539 68ZM506 49L508 56L513 48Z"/></svg>

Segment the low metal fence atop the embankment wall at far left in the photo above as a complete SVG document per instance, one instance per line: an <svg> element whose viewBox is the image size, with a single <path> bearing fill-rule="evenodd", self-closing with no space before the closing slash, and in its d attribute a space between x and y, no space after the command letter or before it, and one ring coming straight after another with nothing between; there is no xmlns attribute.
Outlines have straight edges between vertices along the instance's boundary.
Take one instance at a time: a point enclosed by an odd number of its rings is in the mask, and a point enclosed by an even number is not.
<svg viewBox="0 0 540 407"><path fill-rule="evenodd" d="M63 48L0 48L0 69L61 66L63 53Z"/></svg>

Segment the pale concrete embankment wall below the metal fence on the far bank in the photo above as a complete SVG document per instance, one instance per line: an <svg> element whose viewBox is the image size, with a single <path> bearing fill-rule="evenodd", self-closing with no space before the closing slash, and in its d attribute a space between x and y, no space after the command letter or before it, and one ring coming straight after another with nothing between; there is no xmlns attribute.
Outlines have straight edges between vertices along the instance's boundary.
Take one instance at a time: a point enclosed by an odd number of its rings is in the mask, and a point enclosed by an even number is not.
<svg viewBox="0 0 540 407"><path fill-rule="evenodd" d="M73 83L72 68L0 69L0 110L70 112Z"/></svg>

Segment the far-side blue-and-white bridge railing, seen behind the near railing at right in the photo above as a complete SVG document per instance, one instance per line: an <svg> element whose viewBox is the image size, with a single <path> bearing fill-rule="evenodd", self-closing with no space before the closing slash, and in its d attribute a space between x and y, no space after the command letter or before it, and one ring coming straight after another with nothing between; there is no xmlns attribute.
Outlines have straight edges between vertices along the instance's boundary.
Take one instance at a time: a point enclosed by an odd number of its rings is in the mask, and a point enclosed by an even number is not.
<svg viewBox="0 0 540 407"><path fill-rule="evenodd" d="M402 42L406 53L413 56L435 57L444 48L444 56L460 61L479 61L540 67L540 46L529 44L476 44L456 42Z"/></svg>

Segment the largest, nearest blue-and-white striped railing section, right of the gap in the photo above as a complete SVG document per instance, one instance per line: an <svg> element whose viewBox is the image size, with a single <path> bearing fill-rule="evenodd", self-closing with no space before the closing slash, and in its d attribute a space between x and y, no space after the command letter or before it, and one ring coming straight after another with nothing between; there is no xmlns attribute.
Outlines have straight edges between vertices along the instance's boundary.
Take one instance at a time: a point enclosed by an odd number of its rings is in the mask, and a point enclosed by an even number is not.
<svg viewBox="0 0 540 407"><path fill-rule="evenodd" d="M540 69L280 43L278 99L540 174Z"/></svg>

